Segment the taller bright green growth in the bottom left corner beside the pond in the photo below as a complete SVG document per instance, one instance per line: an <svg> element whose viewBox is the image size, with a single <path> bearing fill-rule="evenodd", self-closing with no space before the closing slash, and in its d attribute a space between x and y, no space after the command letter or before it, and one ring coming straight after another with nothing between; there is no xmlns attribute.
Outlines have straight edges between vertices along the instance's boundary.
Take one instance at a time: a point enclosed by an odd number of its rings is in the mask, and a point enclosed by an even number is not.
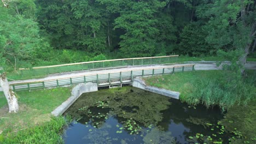
<svg viewBox="0 0 256 144"><path fill-rule="evenodd" d="M66 124L65 118L53 117L50 122L20 130L4 139L0 137L0 143L63 143L60 133Z"/></svg>

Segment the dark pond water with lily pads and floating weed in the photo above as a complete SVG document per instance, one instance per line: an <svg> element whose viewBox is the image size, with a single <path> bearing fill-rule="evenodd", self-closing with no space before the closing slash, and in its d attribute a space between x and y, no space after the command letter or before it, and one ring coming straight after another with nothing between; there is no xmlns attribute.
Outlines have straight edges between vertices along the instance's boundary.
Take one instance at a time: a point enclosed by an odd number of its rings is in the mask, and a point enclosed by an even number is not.
<svg viewBox="0 0 256 144"><path fill-rule="evenodd" d="M83 94L65 113L74 118L65 143L228 143L217 108L133 87Z"/></svg>

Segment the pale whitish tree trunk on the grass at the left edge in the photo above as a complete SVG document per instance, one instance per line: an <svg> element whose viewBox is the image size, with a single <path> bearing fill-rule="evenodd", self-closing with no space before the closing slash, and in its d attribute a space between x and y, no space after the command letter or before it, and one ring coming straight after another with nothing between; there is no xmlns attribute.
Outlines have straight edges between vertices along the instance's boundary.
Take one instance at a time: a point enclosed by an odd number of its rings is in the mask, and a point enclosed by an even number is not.
<svg viewBox="0 0 256 144"><path fill-rule="evenodd" d="M11 90L7 76L5 73L0 74L0 86L3 89L4 95L7 99L8 106L9 106L9 112L18 112L19 110L19 105L18 105L18 100L15 97L15 93L13 90Z"/></svg>

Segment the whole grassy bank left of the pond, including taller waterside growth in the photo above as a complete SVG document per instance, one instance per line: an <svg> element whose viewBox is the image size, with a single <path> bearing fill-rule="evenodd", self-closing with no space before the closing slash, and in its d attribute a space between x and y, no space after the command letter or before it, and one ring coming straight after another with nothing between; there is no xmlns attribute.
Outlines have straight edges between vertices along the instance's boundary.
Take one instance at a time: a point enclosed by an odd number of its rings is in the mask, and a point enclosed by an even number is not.
<svg viewBox="0 0 256 144"><path fill-rule="evenodd" d="M8 113L7 101L0 93L0 143L61 143L59 134L66 120L50 112L67 100L70 91L54 88L17 92L18 113Z"/></svg>

